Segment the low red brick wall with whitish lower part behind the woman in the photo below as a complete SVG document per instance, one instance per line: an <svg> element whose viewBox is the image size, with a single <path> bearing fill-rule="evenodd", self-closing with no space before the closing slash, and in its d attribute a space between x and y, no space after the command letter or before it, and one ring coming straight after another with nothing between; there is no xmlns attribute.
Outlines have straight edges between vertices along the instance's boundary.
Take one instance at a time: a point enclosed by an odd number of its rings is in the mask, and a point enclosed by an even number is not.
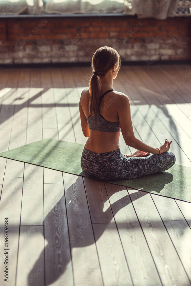
<svg viewBox="0 0 191 286"><path fill-rule="evenodd" d="M90 62L102 46L123 62L191 59L190 17L1 18L0 63Z"/></svg>

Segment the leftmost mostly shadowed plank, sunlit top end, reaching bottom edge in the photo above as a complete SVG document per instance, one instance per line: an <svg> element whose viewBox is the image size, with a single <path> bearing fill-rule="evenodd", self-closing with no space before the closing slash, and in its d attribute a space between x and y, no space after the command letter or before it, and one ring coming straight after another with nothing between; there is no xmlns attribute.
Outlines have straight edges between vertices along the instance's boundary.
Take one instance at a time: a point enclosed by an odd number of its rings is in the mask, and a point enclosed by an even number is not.
<svg viewBox="0 0 191 286"><path fill-rule="evenodd" d="M44 184L44 235L46 285L73 285L63 182Z"/></svg>

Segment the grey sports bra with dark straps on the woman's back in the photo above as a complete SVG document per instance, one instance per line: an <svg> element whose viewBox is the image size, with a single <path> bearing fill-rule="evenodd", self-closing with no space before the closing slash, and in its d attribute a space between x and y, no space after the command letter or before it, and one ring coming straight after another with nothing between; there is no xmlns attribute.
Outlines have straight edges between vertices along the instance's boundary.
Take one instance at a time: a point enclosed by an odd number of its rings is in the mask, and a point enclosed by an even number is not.
<svg viewBox="0 0 191 286"><path fill-rule="evenodd" d="M115 91L115 90L108 90L104 94L102 94L102 96L99 97L99 104L100 104L102 98L108 92L111 92L111 91ZM103 132L119 132L119 131L121 131L119 120L115 121L115 122L108 121L101 115L100 111L96 115L91 114L87 118L87 122L88 122L89 129L91 129L91 130L98 130L98 131L103 131Z"/></svg>

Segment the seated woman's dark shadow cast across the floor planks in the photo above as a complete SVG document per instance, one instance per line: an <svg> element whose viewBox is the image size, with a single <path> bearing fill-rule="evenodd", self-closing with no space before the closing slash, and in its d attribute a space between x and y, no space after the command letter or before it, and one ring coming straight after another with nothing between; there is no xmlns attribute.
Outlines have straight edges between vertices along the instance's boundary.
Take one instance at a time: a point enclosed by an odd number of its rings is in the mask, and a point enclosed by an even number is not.
<svg viewBox="0 0 191 286"><path fill-rule="evenodd" d="M60 281L59 286L73 285L74 282L69 281L72 277L72 248L86 247L95 243L86 196L90 207L92 223L99 223L99 221L96 221L97 217L103 218L103 221L105 220L105 222L109 223L111 221L114 222L113 216L115 216L121 208L139 198L139 193L141 193L141 196L147 194L147 192L137 191L131 195L130 199L125 186L109 184L107 182L104 184L103 181L85 177L83 181L82 176L78 176L77 179L76 177L77 176L64 177L65 193L44 219L44 234L48 244L28 274L28 283L31 286L42 286L43 280L45 280L44 285L51 285L61 278L65 271L68 271L68 274L64 273L66 274L65 280L64 282ZM161 179L162 177L163 179ZM172 180L172 174L160 172L158 179L156 176L157 192L160 192L160 190L164 188L164 185ZM92 184L96 184L97 186L94 190L91 190ZM105 188L105 186L107 187ZM136 187L138 187L138 185L134 188ZM121 191L126 191L127 194L125 193L123 198L113 203L110 202L110 206L109 198ZM121 203L121 200L123 203ZM107 209L104 210L105 208ZM118 227L120 227L120 225ZM96 240L101 237L105 228L106 224L102 223L102 231L99 232L99 236L96 236ZM90 233L92 233L92 235L90 235ZM44 265L41 268L40 265L42 265L43 261ZM40 268L44 270L39 270L39 275L35 277L35 279L32 279L31 277L34 277L34 273ZM67 277L70 277L68 281Z"/></svg>

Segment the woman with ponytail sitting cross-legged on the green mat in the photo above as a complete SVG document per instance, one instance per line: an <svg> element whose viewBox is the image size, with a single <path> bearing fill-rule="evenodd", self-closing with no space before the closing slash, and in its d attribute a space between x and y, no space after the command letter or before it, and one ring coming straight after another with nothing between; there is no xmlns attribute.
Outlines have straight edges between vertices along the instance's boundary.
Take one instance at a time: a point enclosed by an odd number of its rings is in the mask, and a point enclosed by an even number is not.
<svg viewBox="0 0 191 286"><path fill-rule="evenodd" d="M129 98L113 89L121 66L118 52L107 46L97 49L91 66L94 73L79 102L82 131L88 137L81 158L83 172L100 180L128 180L172 167L176 160L168 152L172 141L166 139L154 148L133 133ZM125 143L137 149L135 153L121 152L120 132Z"/></svg>

